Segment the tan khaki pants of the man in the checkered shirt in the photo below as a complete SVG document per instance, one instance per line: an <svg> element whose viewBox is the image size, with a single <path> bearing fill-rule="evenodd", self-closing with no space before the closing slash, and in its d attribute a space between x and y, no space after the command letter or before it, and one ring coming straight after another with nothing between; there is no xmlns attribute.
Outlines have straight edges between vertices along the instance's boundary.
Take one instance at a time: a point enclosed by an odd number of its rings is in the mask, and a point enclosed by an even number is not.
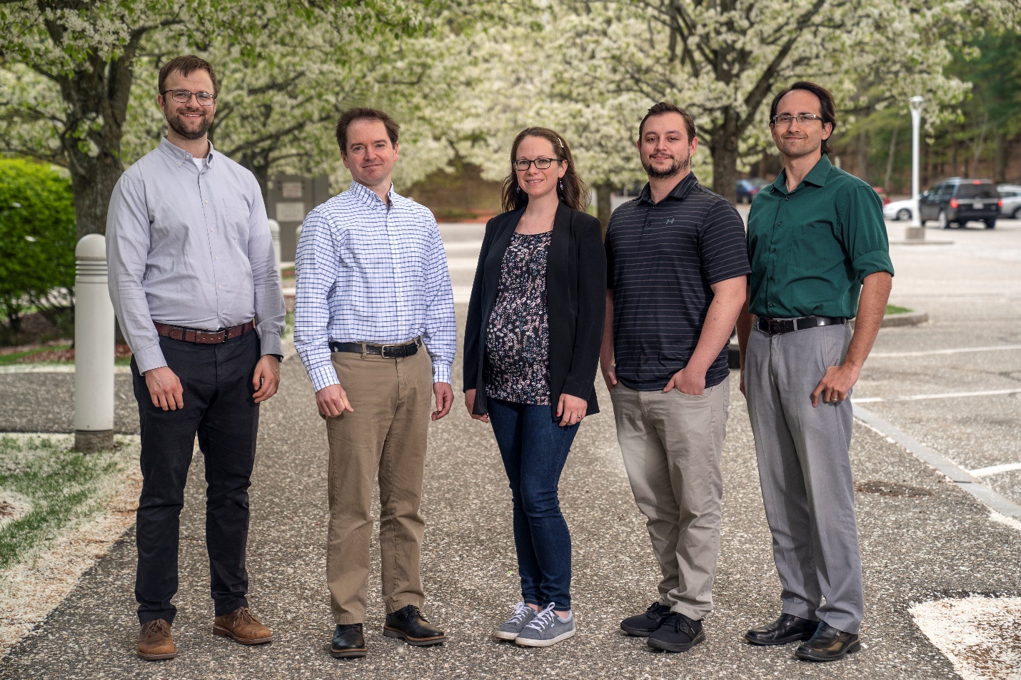
<svg viewBox="0 0 1021 680"><path fill-rule="evenodd" d="M380 485L380 553L387 613L425 592L419 560L425 522L419 512L432 403L432 361L412 356L334 352L333 367L354 412L327 419L330 529L327 584L335 623L363 623L369 586L373 485Z"/></svg>

